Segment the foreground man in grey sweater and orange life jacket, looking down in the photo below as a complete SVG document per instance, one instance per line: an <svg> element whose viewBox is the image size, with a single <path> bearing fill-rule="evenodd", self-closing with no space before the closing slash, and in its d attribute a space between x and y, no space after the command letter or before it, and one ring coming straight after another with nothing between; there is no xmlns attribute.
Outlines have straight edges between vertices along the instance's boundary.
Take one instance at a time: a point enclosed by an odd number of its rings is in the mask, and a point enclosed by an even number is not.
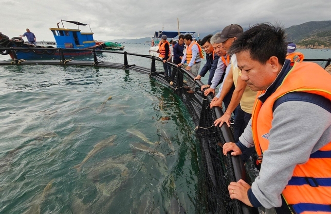
<svg viewBox="0 0 331 214"><path fill-rule="evenodd" d="M239 142L225 143L223 153L255 145L261 163L252 186L230 183L230 198L277 214L331 213L331 76L315 63L291 66L286 47L281 27L257 24L228 52L259 92Z"/></svg>

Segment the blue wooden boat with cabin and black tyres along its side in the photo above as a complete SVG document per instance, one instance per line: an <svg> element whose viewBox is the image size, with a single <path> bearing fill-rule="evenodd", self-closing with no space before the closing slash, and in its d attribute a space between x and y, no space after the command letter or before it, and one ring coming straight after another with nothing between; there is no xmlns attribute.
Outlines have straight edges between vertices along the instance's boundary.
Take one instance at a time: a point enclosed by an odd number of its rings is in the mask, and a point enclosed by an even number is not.
<svg viewBox="0 0 331 214"><path fill-rule="evenodd" d="M65 28L63 22L69 22L77 25L77 29ZM59 24L62 23L63 28L59 27ZM17 48L26 48L15 50L9 52L9 55L12 59L25 59L25 60L44 60L44 59L60 59L60 51L62 50L65 58L73 58L80 55L91 55L93 49L103 49L105 48L104 42L98 42L93 39L93 32L81 32L79 26L86 26L90 24L83 24L78 21L68 21L62 20L57 23L57 28L50 28L52 31L55 41L56 48L54 46L33 46L30 44L24 43L24 40L21 37L13 37L7 44L6 47L17 47ZM39 48L39 49L37 49ZM45 48L45 49L41 49ZM85 49L91 51L75 51L75 49Z"/></svg>

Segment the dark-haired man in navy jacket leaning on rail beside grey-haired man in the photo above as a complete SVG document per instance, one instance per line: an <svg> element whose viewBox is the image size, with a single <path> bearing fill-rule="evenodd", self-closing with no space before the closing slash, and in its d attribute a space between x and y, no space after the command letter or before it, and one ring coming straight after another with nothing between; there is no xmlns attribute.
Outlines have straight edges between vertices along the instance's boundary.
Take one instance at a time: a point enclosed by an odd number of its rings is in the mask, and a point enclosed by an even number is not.
<svg viewBox="0 0 331 214"><path fill-rule="evenodd" d="M215 53L213 46L210 44L210 39L213 35L209 34L206 35L202 40L201 40L201 47L203 48L204 52L206 53L206 64L202 67L199 75L194 78L194 80L201 80L201 77L204 77L204 75L208 72L209 70L209 78L207 85L202 85L201 86L201 91L203 91L204 88L209 88L211 85L211 81L213 80L215 70L217 68L217 64L219 61L219 56Z"/></svg>

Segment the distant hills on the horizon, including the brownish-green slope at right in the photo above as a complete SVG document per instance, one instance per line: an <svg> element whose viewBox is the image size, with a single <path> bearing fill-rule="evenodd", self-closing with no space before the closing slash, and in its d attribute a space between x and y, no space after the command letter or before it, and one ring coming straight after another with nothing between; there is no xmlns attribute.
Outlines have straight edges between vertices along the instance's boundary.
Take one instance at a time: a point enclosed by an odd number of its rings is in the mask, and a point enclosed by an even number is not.
<svg viewBox="0 0 331 214"><path fill-rule="evenodd" d="M310 49L330 49L331 48L331 21L310 21L300 25L294 25L285 29L288 42L294 42L298 48ZM203 38L208 34L221 32L200 33L199 38ZM197 33L195 34L196 38ZM151 37L137 39L113 39L111 42L121 43L149 43Z"/></svg>

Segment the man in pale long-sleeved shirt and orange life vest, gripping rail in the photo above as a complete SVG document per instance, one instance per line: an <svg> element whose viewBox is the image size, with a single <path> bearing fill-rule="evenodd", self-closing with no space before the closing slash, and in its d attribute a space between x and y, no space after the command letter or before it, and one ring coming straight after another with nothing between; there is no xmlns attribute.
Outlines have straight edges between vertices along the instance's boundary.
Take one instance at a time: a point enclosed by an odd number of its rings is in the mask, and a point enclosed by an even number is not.
<svg viewBox="0 0 331 214"><path fill-rule="evenodd" d="M182 62L177 66L183 66L185 60L187 61L188 65L186 66L187 71L191 71L194 76L198 76L198 72L201 66L201 59L203 59L202 49L200 45L193 41L192 36L190 34L184 35L184 43L187 47L186 53L184 53ZM188 93L192 94L195 90L195 83L189 81L189 86L184 86L186 89L190 89Z"/></svg>

